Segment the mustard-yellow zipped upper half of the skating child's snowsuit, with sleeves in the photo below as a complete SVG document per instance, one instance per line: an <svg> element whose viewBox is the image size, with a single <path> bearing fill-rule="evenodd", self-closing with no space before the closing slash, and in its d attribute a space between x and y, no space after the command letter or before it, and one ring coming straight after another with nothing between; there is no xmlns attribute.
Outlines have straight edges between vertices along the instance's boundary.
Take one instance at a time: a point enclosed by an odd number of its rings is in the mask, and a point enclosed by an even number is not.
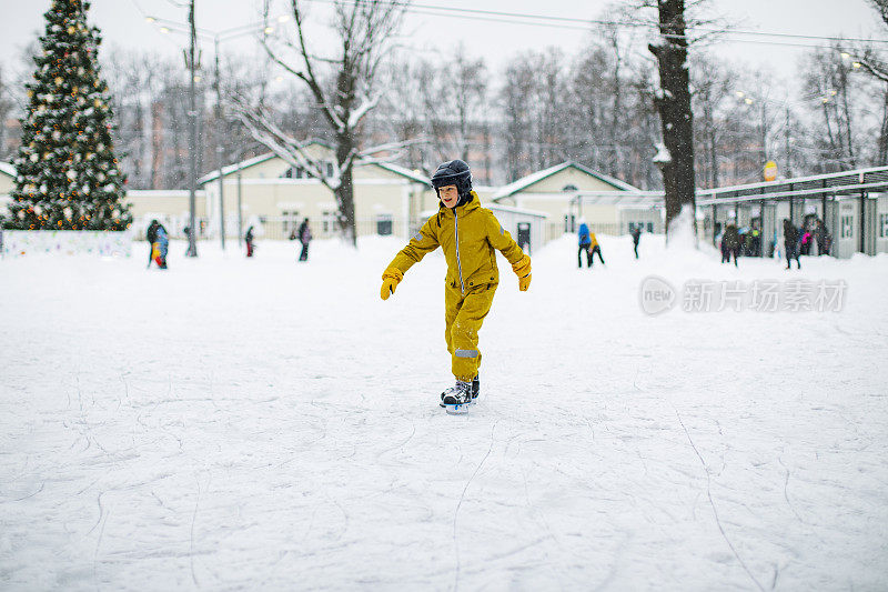
<svg viewBox="0 0 888 592"><path fill-rule="evenodd" d="M493 212L481 207L477 193L473 191L472 197L472 201L454 209L442 204L438 212L395 255L389 269L395 268L403 274L441 247L447 261L446 282L463 294L476 285L500 282L494 249L503 253L516 273L523 269L521 264L526 259L529 273L531 258L500 225Z"/></svg>

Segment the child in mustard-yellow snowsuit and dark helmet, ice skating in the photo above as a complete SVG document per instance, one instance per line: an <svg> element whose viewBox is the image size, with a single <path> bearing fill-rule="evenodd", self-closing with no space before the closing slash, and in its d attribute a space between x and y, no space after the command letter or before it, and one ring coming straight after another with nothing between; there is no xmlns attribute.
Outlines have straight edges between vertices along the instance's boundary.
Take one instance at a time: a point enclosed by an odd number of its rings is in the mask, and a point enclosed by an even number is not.
<svg viewBox="0 0 888 592"><path fill-rule="evenodd" d="M440 165L432 177L441 207L423 224L382 274L380 295L387 300L404 273L438 247L444 250L445 333L456 384L441 394L442 404L470 403L480 391L478 330L491 310L500 283L500 250L518 277L518 289L531 285L531 258L524 254L493 212L482 208L472 191L472 172L462 160Z"/></svg>

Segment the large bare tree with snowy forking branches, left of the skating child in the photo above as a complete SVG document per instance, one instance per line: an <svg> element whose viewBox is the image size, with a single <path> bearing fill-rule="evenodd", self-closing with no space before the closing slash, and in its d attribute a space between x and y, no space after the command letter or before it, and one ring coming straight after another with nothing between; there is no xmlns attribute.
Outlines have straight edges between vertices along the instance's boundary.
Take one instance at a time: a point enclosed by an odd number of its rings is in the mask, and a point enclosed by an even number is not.
<svg viewBox="0 0 888 592"><path fill-rule="evenodd" d="M392 47L405 4L334 0L332 28L337 51L332 57L323 57L310 46L304 4L304 0L291 0L295 39L280 39L280 43L264 39L263 46L275 63L311 91L333 137L335 174L327 175L323 163L274 122L268 106L250 104L242 94L234 108L258 141L292 165L303 168L333 192L343 234L356 245L352 169L360 152L359 128L380 101L382 91L374 88L376 74ZM269 0L264 13L268 21Z"/></svg>

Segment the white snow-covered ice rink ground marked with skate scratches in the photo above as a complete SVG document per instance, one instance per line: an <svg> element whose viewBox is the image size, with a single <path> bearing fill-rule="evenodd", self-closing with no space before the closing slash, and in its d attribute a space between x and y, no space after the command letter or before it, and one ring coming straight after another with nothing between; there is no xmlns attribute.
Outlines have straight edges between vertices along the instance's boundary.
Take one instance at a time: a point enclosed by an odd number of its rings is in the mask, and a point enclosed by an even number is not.
<svg viewBox="0 0 888 592"><path fill-rule="evenodd" d="M0 261L0 588L888 589L888 258L602 244L501 260L465 417L443 258L379 298L397 239ZM650 274L846 290L648 315Z"/></svg>

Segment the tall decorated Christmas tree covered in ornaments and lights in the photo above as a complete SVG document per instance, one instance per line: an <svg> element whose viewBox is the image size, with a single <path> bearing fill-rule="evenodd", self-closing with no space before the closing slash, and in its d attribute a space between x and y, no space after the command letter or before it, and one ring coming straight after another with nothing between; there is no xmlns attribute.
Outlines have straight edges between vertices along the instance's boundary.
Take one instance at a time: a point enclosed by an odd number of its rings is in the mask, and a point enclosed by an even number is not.
<svg viewBox="0 0 888 592"><path fill-rule="evenodd" d="M87 26L89 7L53 0L44 14L8 228L125 230L132 222L111 141L108 86L99 74L101 38Z"/></svg>

